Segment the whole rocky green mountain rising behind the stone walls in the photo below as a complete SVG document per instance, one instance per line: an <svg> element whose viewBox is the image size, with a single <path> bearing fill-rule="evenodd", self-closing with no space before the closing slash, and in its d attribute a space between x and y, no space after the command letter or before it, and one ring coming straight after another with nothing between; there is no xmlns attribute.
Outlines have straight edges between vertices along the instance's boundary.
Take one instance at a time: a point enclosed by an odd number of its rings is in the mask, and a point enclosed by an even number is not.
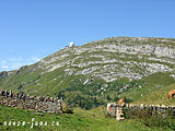
<svg viewBox="0 0 175 131"><path fill-rule="evenodd" d="M104 38L0 72L1 88L63 97L85 109L121 96L130 102L147 98L171 84L175 84L174 38Z"/></svg>

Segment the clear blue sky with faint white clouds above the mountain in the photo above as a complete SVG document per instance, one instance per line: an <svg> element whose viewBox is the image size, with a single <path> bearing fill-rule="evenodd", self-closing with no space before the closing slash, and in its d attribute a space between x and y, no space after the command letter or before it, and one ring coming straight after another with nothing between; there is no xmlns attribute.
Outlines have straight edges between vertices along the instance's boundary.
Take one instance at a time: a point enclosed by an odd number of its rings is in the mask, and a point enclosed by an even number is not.
<svg viewBox="0 0 175 131"><path fill-rule="evenodd" d="M0 0L0 71L114 36L175 38L175 0Z"/></svg>

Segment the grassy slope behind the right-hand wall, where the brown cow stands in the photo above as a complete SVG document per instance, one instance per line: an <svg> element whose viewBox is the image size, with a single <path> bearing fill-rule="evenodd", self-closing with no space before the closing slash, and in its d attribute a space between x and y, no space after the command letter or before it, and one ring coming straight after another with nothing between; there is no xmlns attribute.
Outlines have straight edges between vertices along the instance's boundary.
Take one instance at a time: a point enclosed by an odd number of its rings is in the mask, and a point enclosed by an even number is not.
<svg viewBox="0 0 175 131"><path fill-rule="evenodd" d="M145 83L142 88L132 88L120 96L132 99L132 103L175 105L175 100L166 99L167 93L175 90L175 80L168 73L152 74L141 81Z"/></svg>

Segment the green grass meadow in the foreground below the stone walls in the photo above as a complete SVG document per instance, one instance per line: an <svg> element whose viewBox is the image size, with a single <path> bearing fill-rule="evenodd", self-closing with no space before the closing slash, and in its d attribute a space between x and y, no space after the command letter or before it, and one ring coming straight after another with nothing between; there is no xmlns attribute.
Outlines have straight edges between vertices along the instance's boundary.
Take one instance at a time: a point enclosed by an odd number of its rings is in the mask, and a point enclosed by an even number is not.
<svg viewBox="0 0 175 131"><path fill-rule="evenodd" d="M0 106L0 130L21 131L31 130L31 124L24 127L8 126L4 127L4 121L47 121L47 127L36 127L32 131L171 131L171 129L149 128L142 126L136 120L116 121L115 118L106 117L105 109L102 107L92 110L74 109L72 115L49 115L10 107ZM59 121L58 127L51 127L52 121Z"/></svg>

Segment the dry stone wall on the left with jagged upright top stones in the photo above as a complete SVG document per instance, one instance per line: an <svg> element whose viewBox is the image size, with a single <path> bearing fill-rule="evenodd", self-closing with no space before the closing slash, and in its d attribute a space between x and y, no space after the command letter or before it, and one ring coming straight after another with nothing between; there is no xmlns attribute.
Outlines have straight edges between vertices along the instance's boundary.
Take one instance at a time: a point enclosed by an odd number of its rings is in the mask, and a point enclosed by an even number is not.
<svg viewBox="0 0 175 131"><path fill-rule="evenodd" d="M61 99L44 96L30 96L24 93L15 94L12 91L0 90L0 105L50 114L62 114Z"/></svg>

